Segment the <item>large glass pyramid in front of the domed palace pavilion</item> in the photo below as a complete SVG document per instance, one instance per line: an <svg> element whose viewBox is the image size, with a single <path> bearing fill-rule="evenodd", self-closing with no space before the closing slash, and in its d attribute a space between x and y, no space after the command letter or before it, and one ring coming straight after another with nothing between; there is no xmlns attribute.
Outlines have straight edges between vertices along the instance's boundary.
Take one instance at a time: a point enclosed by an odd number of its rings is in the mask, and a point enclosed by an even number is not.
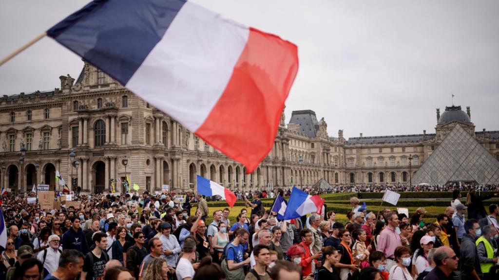
<svg viewBox="0 0 499 280"><path fill-rule="evenodd" d="M412 177L418 185L449 182L499 182L499 161L460 125L447 135Z"/></svg>

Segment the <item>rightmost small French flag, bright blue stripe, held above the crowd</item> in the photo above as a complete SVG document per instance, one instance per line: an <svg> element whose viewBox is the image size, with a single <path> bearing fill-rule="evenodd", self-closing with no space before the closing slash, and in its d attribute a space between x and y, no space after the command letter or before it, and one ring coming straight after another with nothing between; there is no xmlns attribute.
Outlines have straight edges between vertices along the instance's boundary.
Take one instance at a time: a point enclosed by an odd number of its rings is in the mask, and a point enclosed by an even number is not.
<svg viewBox="0 0 499 280"><path fill-rule="evenodd" d="M320 214L323 205L324 199L320 196L309 195L293 186L283 219L291 220L312 212Z"/></svg>

